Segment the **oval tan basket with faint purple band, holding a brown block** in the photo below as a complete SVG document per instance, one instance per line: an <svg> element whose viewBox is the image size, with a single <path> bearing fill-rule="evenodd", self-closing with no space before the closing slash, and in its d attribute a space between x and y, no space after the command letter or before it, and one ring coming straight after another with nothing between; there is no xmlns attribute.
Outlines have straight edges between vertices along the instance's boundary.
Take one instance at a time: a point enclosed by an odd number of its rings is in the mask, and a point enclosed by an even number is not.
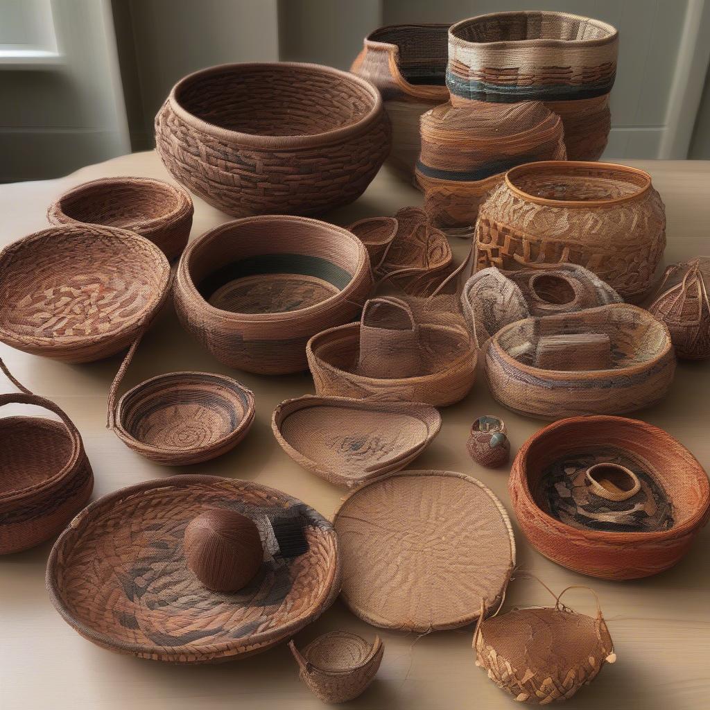
<svg viewBox="0 0 710 710"><path fill-rule="evenodd" d="M607 334L611 366L535 366L543 337ZM504 327L486 345L484 368L491 394L520 414L559 419L580 414L633 412L657 403L675 372L670 334L647 311L615 303L579 313L528 318Z"/></svg>

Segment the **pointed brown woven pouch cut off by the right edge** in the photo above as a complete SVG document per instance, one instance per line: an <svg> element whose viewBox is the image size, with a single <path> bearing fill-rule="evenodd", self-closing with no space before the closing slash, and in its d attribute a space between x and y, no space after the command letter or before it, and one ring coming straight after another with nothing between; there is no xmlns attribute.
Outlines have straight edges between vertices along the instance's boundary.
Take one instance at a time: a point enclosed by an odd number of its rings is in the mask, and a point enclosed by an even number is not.
<svg viewBox="0 0 710 710"><path fill-rule="evenodd" d="M675 354L686 360L710 357L710 258L669 266L648 310L670 330Z"/></svg>

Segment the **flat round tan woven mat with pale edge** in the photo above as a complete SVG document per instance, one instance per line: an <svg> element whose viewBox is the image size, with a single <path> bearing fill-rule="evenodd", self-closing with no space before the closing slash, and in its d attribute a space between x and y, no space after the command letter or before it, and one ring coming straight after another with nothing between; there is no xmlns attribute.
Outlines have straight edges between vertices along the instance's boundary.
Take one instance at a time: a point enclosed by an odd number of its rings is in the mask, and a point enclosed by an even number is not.
<svg viewBox="0 0 710 710"><path fill-rule="evenodd" d="M342 599L373 626L458 628L501 603L515 541L501 501L464 474L399 471L366 483L335 514Z"/></svg>

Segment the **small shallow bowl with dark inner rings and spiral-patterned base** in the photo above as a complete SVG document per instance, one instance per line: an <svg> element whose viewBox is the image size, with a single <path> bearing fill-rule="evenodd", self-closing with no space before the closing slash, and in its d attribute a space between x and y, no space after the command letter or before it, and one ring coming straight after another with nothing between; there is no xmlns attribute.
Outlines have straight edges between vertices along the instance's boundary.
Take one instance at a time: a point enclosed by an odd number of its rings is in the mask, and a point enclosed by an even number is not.
<svg viewBox="0 0 710 710"><path fill-rule="evenodd" d="M239 444L255 411L254 395L231 377L173 372L141 382L121 397L114 432L158 464L199 464Z"/></svg>

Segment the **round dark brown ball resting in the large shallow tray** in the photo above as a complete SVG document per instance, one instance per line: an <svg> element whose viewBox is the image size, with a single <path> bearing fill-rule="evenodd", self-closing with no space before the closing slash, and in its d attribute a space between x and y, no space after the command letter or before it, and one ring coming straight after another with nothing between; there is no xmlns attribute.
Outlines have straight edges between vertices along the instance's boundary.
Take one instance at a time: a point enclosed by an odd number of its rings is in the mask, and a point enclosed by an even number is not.
<svg viewBox="0 0 710 710"><path fill-rule="evenodd" d="M261 536L253 520L234 510L206 510L187 528L187 566L214 591L237 591L249 584L263 562Z"/></svg>

